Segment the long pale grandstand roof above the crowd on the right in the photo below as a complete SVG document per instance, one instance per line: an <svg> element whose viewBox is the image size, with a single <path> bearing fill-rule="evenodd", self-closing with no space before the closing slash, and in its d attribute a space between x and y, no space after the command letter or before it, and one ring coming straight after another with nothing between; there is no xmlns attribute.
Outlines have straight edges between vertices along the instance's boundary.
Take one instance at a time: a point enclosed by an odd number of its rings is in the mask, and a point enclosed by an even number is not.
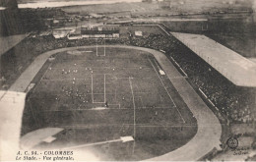
<svg viewBox="0 0 256 162"><path fill-rule="evenodd" d="M201 34L170 32L227 80L238 86L256 87L256 63Z"/></svg>

